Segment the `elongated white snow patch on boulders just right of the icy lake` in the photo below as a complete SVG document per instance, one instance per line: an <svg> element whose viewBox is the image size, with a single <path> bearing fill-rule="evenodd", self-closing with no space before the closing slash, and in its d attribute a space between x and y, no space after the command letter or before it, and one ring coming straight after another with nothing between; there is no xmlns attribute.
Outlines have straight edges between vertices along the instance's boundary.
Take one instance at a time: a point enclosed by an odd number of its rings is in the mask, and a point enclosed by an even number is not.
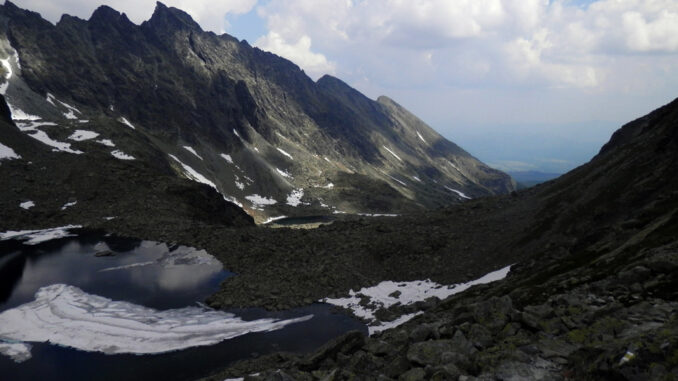
<svg viewBox="0 0 678 381"><path fill-rule="evenodd" d="M384 281L373 287L362 288L358 292L351 290L348 298L325 298L321 301L350 309L357 317L367 320L370 335L373 335L384 329L396 327L416 316L416 314L404 315L396 321L379 324L376 323L374 314L381 308L389 308L398 303L410 305L419 301L424 301L430 297L445 299L451 295L465 291L472 286L504 279L509 271L511 271L511 266L493 271L470 282L449 286L443 286L428 279L411 282ZM399 295L396 296L398 293ZM363 297L370 299L370 302L365 306L360 304Z"/></svg>

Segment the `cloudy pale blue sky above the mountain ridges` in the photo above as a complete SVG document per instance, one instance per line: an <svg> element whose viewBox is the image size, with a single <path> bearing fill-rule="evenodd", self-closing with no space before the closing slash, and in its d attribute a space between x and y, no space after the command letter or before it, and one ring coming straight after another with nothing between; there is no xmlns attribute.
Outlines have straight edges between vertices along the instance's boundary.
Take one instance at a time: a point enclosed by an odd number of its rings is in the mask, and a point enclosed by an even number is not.
<svg viewBox="0 0 678 381"><path fill-rule="evenodd" d="M102 0L103 1L103 0ZM15 0L56 22L91 0ZM166 0L228 33L387 95L503 170L562 173L678 97L678 0ZM108 0L136 23L152 0Z"/></svg>

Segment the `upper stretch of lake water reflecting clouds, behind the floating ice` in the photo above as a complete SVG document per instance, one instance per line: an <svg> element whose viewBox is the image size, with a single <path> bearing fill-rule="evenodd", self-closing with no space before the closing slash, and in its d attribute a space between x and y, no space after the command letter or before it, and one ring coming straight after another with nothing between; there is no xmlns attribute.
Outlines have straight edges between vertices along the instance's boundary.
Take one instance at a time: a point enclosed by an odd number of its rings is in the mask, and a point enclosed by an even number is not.
<svg viewBox="0 0 678 381"><path fill-rule="evenodd" d="M95 255L103 250L112 255ZM126 267L138 263L147 265ZM102 271L115 267L120 269ZM179 308L204 299L231 275L204 251L93 235L2 254L0 274L0 311L31 301L40 287L56 283L156 309Z"/></svg>

